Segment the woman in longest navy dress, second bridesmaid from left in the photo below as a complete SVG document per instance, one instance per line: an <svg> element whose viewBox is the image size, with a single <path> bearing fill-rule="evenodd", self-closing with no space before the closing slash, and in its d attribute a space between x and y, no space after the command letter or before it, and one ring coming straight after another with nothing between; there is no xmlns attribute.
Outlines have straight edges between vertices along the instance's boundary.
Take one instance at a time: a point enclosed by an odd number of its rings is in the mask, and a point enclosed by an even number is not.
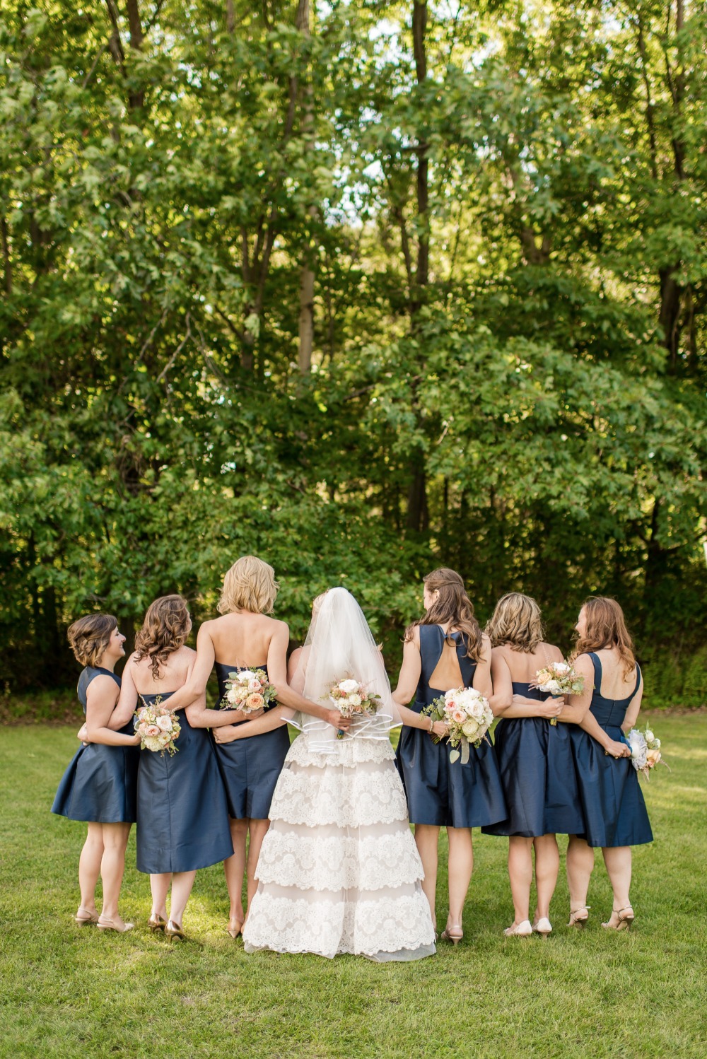
<svg viewBox="0 0 707 1059"><path fill-rule="evenodd" d="M184 646L191 629L182 596L162 596L150 604L135 638L135 653L125 666L121 707L134 710L158 699L171 706L169 699L188 679L197 657ZM140 755L138 870L150 877L148 926L152 931L164 930L170 940L184 937L182 917L197 870L233 855L225 790L205 731L226 724L232 712L204 707L202 696L180 714L174 756L149 750Z"/></svg>

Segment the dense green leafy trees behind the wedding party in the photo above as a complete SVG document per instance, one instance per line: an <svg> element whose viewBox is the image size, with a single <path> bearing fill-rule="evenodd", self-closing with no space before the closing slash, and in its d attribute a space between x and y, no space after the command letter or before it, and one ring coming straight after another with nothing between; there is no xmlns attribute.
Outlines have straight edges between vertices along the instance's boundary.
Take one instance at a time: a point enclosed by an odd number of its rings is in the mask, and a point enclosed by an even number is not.
<svg viewBox="0 0 707 1059"><path fill-rule="evenodd" d="M446 563L704 702L707 5L4 0L0 658Z"/></svg>

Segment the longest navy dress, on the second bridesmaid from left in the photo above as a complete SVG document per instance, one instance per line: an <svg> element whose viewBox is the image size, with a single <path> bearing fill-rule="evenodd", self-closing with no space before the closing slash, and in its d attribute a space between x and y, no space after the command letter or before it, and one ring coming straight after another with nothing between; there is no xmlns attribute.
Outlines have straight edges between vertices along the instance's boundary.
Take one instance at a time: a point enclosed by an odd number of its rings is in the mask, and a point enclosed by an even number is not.
<svg viewBox="0 0 707 1059"><path fill-rule="evenodd" d="M151 705L158 696L141 698ZM177 713L177 753L140 752L138 870L150 875L193 872L233 856L225 790L209 732L193 729L184 710Z"/></svg>

